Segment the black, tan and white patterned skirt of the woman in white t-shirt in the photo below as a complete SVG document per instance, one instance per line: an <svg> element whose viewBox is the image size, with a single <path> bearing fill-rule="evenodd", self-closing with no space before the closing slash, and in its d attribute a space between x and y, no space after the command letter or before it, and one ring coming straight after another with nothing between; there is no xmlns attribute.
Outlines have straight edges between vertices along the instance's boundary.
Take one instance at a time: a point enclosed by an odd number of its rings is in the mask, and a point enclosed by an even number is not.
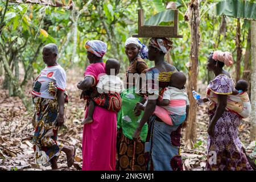
<svg viewBox="0 0 256 182"><path fill-rule="evenodd" d="M34 126L34 155L36 163L46 164L54 156L58 156L63 144L57 142L56 118L59 111L56 99L32 96L35 115L32 119Z"/></svg>

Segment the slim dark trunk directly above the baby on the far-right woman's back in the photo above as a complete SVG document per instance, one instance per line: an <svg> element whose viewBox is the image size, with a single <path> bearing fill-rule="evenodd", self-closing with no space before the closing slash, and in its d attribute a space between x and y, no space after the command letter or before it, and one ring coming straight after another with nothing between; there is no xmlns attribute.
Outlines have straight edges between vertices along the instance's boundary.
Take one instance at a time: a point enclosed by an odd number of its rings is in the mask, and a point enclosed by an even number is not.
<svg viewBox="0 0 256 182"><path fill-rule="evenodd" d="M237 32L236 32L236 49L237 49L237 61L236 61L236 80L240 79L241 71L241 58L242 58L242 48L241 48L241 26L240 19L237 19Z"/></svg>

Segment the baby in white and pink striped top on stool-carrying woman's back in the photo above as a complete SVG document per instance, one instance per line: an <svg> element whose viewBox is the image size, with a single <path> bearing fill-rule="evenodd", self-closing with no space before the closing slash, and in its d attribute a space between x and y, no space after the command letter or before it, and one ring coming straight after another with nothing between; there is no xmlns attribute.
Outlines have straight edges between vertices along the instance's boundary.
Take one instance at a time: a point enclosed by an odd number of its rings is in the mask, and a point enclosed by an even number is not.
<svg viewBox="0 0 256 182"><path fill-rule="evenodd" d="M183 73L172 73L170 86L157 100L154 114L167 125L177 126L187 119L189 101L184 89L186 81L187 78ZM147 101L144 105L138 102L137 108L144 110L146 104Z"/></svg>

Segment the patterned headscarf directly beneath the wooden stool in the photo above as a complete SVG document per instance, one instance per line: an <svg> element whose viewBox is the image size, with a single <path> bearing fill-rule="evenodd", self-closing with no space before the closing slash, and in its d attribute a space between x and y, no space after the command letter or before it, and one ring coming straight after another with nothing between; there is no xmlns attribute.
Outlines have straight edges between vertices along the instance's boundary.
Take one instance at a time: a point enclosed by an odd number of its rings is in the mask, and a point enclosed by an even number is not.
<svg viewBox="0 0 256 182"><path fill-rule="evenodd" d="M163 53L167 53L172 49L172 41L167 38L151 38L149 45L159 51L163 51Z"/></svg>

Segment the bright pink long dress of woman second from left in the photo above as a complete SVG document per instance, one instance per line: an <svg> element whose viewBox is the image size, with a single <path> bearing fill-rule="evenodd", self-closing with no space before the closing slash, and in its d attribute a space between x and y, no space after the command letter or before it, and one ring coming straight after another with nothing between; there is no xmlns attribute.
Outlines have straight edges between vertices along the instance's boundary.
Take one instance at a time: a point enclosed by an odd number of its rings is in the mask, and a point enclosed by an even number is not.
<svg viewBox="0 0 256 182"><path fill-rule="evenodd" d="M98 75L105 73L104 63L90 64L85 76L98 83ZM87 110L86 114L87 115ZM82 135L82 170L114 171L117 140L117 113L96 106L93 122L84 125Z"/></svg>

